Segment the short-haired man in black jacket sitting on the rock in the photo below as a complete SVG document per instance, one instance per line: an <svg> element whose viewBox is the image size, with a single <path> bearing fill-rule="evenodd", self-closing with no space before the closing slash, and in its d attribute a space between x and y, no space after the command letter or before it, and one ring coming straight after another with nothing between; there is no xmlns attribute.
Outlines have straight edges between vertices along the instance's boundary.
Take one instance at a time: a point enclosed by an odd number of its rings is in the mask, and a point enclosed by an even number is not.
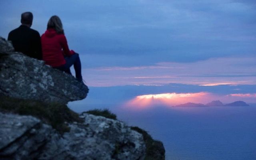
<svg viewBox="0 0 256 160"><path fill-rule="evenodd" d="M31 29L33 14L25 12L21 14L20 27L12 30L8 35L8 40L12 41L12 45L16 52L22 52L27 56L42 60L42 46L40 34Z"/></svg>

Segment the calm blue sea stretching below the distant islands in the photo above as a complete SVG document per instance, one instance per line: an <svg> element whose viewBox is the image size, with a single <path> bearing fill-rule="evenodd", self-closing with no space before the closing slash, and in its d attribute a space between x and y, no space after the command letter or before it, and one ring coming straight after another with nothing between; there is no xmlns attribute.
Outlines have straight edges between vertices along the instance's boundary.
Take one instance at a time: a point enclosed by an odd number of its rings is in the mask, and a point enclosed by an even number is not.
<svg viewBox="0 0 256 160"><path fill-rule="evenodd" d="M146 110L111 106L70 108L76 112L109 108L119 120L162 141L166 160L256 160L256 105Z"/></svg>

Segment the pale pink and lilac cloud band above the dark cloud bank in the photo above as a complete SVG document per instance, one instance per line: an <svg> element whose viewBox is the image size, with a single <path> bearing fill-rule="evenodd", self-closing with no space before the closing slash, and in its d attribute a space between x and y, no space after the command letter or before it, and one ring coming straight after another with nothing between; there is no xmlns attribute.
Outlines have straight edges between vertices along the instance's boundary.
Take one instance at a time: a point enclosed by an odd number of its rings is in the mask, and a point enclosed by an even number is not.
<svg viewBox="0 0 256 160"><path fill-rule="evenodd" d="M83 69L89 86L164 85L201 86L256 84L256 57L212 58L192 63L161 62L153 66Z"/></svg>

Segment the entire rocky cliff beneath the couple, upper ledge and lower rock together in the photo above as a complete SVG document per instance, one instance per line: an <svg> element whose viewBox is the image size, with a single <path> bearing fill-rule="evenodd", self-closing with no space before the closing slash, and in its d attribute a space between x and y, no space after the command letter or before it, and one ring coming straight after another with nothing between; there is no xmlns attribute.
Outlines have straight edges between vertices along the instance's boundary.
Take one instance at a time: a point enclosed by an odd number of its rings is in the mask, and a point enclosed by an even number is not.
<svg viewBox="0 0 256 160"><path fill-rule="evenodd" d="M164 159L162 142L145 144L140 130L102 116L78 115L65 105L87 93L73 76L14 52L0 38L0 159Z"/></svg>

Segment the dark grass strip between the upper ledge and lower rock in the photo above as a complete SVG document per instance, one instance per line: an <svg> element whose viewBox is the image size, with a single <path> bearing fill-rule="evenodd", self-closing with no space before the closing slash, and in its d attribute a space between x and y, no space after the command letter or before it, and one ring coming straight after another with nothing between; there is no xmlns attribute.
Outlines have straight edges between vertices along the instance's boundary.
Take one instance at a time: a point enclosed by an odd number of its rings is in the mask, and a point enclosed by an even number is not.
<svg viewBox="0 0 256 160"><path fill-rule="evenodd" d="M0 111L35 116L50 124L61 134L70 130L65 122L83 122L79 115L70 110L65 104L44 103L8 96L0 96Z"/></svg>

